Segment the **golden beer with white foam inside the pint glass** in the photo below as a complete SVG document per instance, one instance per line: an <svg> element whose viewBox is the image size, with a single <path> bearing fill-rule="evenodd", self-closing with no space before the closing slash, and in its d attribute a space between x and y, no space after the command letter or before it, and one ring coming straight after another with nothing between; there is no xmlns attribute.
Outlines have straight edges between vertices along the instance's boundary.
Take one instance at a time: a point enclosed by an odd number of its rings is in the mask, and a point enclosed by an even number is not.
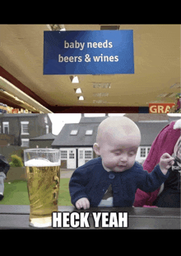
<svg viewBox="0 0 181 256"><path fill-rule="evenodd" d="M28 162L33 164L29 164ZM52 225L52 212L58 211L60 165L33 159L26 162L26 178L30 200L30 225ZM28 166L27 166L28 165ZM30 166L34 165L34 166ZM43 166L42 166L43 165Z"/></svg>

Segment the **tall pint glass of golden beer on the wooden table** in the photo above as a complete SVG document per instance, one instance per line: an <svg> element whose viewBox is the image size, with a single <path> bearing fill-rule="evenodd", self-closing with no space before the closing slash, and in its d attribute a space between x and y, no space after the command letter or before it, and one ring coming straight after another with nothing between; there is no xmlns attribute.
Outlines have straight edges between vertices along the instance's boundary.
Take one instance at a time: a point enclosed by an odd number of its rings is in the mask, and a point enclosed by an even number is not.
<svg viewBox="0 0 181 256"><path fill-rule="evenodd" d="M52 212L58 211L60 151L25 149L24 162L30 200L30 225L49 227Z"/></svg>

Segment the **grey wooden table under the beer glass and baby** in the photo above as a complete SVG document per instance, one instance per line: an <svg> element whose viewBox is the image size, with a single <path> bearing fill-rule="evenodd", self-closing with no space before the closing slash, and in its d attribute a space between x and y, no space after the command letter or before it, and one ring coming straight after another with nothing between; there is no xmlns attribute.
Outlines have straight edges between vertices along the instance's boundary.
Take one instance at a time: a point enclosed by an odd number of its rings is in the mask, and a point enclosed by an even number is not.
<svg viewBox="0 0 181 256"><path fill-rule="evenodd" d="M35 229L29 225L29 215L30 206L0 205L0 229ZM74 206L58 206L57 217L59 216L64 218L64 224L61 227L48 229L181 229L179 208L91 207L89 210L77 210ZM79 216L87 217L88 222L84 221L82 224ZM128 225L125 222L126 216L128 216ZM100 219L95 219L98 217ZM56 223L58 226L59 222ZM72 223L73 227L72 225L67 227L69 223ZM89 226L86 226L87 223ZM95 227L96 225L98 227Z"/></svg>

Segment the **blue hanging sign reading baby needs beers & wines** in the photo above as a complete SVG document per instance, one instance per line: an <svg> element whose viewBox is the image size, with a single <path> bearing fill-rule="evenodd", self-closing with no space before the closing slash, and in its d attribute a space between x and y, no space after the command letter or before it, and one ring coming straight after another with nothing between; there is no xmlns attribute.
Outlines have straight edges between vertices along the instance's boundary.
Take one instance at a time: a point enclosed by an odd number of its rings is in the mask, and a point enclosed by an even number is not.
<svg viewBox="0 0 181 256"><path fill-rule="evenodd" d="M44 31L44 74L134 73L133 31Z"/></svg>

